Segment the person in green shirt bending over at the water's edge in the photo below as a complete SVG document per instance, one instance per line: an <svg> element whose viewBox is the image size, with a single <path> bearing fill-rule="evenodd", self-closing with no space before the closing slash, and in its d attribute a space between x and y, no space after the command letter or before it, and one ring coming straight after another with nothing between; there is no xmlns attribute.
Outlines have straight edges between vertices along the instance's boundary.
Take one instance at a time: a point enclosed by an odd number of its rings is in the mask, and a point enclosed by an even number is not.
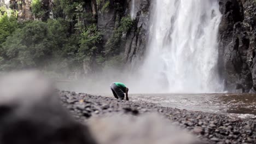
<svg viewBox="0 0 256 144"><path fill-rule="evenodd" d="M126 100L129 100L128 98L128 91L129 88L127 88L124 83L121 82L114 82L110 85L110 89L112 90L114 97L117 99L124 99L124 93Z"/></svg>

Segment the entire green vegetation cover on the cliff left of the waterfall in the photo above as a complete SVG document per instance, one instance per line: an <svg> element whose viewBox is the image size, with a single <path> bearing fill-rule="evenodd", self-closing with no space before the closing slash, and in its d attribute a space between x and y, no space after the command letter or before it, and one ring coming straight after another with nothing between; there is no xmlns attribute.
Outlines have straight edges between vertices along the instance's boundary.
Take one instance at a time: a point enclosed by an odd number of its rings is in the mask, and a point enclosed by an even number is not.
<svg viewBox="0 0 256 144"><path fill-rule="evenodd" d="M109 9L108 0L96 3L102 13ZM17 4L22 8L21 1ZM117 18L119 26L104 44L97 20L88 11L89 1L55 0L54 19L49 19L43 1L32 0L32 14L39 18L36 21L18 21L18 7L0 8L0 70L38 68L54 75L77 73L86 67L91 73L122 63L119 45L122 35L133 26L130 17Z"/></svg>

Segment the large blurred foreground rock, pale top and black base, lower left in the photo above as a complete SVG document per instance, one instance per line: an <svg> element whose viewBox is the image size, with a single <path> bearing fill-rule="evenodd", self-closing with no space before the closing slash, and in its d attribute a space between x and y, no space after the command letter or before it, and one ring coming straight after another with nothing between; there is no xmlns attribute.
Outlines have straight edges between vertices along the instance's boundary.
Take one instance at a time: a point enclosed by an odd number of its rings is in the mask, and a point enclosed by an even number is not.
<svg viewBox="0 0 256 144"><path fill-rule="evenodd" d="M53 84L36 71L0 77L1 144L94 144L88 128L62 109Z"/></svg>

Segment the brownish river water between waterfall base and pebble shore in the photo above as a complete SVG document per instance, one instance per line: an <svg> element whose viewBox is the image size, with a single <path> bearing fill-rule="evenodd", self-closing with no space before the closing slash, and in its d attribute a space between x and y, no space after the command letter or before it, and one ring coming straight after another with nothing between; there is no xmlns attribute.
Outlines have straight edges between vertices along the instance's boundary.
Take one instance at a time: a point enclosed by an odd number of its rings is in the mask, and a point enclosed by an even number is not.
<svg viewBox="0 0 256 144"><path fill-rule="evenodd" d="M100 94L113 97L112 94ZM131 101L256 119L256 94L129 94Z"/></svg>

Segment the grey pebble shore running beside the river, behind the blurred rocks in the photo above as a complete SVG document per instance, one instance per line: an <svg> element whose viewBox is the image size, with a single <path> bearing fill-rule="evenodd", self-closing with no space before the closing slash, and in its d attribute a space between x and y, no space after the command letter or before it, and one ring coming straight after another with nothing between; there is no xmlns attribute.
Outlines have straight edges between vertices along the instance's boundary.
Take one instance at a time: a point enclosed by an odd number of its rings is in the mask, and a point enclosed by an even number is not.
<svg viewBox="0 0 256 144"><path fill-rule="evenodd" d="M117 100L68 91L58 92L61 102L72 115L84 122L91 116L136 115L159 113L171 123L187 129L208 143L256 143L256 120L228 115L162 107L145 102Z"/></svg>

